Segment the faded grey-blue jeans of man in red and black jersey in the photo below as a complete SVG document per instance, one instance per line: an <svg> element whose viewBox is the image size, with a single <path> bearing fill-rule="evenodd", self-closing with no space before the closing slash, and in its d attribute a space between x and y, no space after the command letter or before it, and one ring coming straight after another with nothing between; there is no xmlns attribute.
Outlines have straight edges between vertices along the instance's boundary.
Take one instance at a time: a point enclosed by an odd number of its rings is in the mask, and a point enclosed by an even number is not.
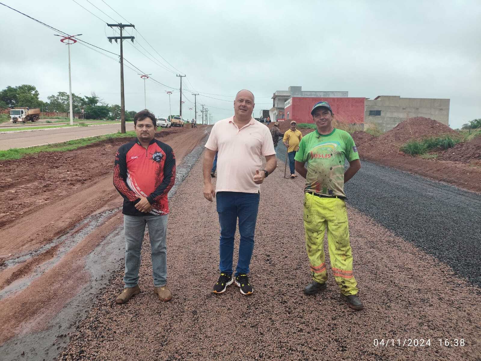
<svg viewBox="0 0 481 361"><path fill-rule="evenodd" d="M151 241L153 285L165 286L167 282L167 236L168 215L130 216L124 214L125 276L126 288L139 283L140 250L144 240L145 225L149 226Z"/></svg>

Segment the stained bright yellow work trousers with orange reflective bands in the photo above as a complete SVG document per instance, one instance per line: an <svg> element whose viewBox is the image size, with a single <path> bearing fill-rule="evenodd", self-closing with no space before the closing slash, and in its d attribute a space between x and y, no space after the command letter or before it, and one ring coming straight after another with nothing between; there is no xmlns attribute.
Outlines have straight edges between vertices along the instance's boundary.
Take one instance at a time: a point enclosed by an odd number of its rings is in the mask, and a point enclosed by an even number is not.
<svg viewBox="0 0 481 361"><path fill-rule="evenodd" d="M329 257L332 273L345 296L358 292L353 275L353 256L349 243L346 202L339 198L320 198L304 195L305 248L311 263L312 278L326 283L324 233L328 231Z"/></svg>

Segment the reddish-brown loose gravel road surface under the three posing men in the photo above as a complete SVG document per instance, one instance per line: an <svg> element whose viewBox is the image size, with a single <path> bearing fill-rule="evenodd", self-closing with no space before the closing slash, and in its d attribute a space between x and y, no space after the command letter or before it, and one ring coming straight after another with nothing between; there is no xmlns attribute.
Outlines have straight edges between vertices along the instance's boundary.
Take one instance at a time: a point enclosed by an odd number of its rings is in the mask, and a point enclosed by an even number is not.
<svg viewBox="0 0 481 361"><path fill-rule="evenodd" d="M219 226L215 202L202 195L201 163L171 200L167 242L173 299L163 303L154 297L147 234L142 293L125 305L114 303L123 288L119 269L69 335L61 360L481 358L480 288L352 206L354 274L365 310L347 308L331 274L327 290L305 296L302 289L311 276L302 220L304 182L283 179L283 164L261 187L253 295L241 295L236 286L214 295ZM439 339L461 338L465 346L440 346ZM375 346L382 339L395 340L394 345Z"/></svg>

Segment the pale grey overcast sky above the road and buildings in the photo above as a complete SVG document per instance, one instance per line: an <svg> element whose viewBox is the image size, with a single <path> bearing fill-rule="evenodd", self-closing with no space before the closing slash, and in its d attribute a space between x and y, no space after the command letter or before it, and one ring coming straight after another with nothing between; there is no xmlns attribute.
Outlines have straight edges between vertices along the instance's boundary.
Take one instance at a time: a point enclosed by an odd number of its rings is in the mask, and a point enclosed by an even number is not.
<svg viewBox="0 0 481 361"><path fill-rule="evenodd" d="M105 22L134 24L136 30L127 30L134 44L124 41L124 56L168 86L146 81L147 108L158 117L169 113L166 90L174 91L172 113L178 113L176 74L186 74L185 118L194 116L192 90L201 93L198 110L205 104L217 121L232 115L239 89L253 91L258 116L272 107L273 92L289 86L371 99L449 98L451 127L481 118L479 0L75 0L100 19L74 0L0 1L116 54L119 44L106 38L116 34ZM0 89L31 84L45 101L68 92L67 46L53 36L57 32L2 5L0 16ZM80 42L71 46L71 57L74 93L95 92L120 104L118 60ZM124 69L127 110L144 108L144 82L137 73Z"/></svg>

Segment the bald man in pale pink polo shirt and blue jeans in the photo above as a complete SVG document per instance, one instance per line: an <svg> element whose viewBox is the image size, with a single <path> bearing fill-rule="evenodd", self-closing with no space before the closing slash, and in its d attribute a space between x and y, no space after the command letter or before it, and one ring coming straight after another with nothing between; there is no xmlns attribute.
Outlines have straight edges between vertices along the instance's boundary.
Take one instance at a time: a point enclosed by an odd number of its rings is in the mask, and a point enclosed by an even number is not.
<svg viewBox="0 0 481 361"><path fill-rule="evenodd" d="M254 230L259 208L260 184L277 167L276 151L266 125L252 117L254 95L241 90L234 100L234 116L214 124L203 161L204 197L212 202L217 197L220 224L220 277L214 293L223 293L234 282L232 257L234 235L239 218L239 261L235 282L243 295L254 292L249 283L249 265L254 249ZM211 183L212 161L217 155L217 183ZM262 169L262 156L266 166Z"/></svg>

